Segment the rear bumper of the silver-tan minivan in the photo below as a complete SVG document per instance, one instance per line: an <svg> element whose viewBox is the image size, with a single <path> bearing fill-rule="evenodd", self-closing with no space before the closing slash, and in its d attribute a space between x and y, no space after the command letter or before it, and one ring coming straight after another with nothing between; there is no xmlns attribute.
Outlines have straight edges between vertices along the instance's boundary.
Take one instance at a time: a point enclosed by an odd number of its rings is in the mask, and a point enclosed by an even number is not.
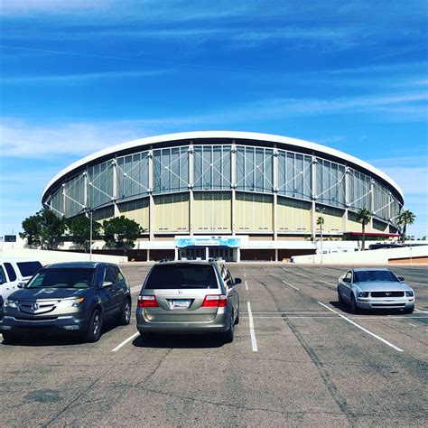
<svg viewBox="0 0 428 428"><path fill-rule="evenodd" d="M140 333L202 333L225 332L230 327L231 316L228 312L218 313L211 321L149 321L144 312L138 308L136 312L136 328Z"/></svg>

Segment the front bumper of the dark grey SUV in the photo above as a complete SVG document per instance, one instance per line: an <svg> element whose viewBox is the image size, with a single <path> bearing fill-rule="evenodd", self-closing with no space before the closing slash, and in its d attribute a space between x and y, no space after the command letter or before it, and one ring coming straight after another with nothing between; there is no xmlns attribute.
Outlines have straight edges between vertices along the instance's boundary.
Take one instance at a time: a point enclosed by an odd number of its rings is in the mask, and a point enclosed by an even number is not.
<svg viewBox="0 0 428 428"><path fill-rule="evenodd" d="M10 331L14 333L64 333L88 330L89 320L76 316L59 316L55 320L16 319L5 315L0 322L0 332Z"/></svg>

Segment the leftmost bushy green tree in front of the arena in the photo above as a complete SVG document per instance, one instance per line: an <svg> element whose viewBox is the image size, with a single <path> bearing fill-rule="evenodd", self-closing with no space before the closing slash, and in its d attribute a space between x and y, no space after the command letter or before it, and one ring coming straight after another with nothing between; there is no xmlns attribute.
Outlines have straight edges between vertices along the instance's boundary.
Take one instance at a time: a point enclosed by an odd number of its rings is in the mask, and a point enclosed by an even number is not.
<svg viewBox="0 0 428 428"><path fill-rule="evenodd" d="M65 219L59 218L51 209L41 209L23 220L20 237L27 239L30 247L58 249L64 242Z"/></svg>

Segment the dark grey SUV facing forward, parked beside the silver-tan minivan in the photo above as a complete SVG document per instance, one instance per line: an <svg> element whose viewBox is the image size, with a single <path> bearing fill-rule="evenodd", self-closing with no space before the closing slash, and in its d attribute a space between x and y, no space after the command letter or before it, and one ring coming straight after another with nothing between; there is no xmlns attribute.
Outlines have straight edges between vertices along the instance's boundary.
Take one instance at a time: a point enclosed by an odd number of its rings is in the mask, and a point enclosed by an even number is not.
<svg viewBox="0 0 428 428"><path fill-rule="evenodd" d="M58 263L43 267L23 289L9 295L0 323L3 339L22 333L74 332L95 342L103 321L131 318L131 294L119 267L107 263Z"/></svg>

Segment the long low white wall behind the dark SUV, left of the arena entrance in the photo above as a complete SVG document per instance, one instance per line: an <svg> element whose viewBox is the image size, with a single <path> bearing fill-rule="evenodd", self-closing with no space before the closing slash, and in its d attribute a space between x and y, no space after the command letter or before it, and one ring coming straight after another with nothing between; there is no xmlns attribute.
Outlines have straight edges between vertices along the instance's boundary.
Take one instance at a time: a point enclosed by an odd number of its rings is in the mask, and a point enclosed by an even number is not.
<svg viewBox="0 0 428 428"><path fill-rule="evenodd" d="M30 248L3 248L0 257L29 258L39 260L42 265L59 262L88 262L89 254L70 253L68 251L47 251ZM93 254L93 262L124 263L127 262L126 256L107 256L102 254Z"/></svg>

